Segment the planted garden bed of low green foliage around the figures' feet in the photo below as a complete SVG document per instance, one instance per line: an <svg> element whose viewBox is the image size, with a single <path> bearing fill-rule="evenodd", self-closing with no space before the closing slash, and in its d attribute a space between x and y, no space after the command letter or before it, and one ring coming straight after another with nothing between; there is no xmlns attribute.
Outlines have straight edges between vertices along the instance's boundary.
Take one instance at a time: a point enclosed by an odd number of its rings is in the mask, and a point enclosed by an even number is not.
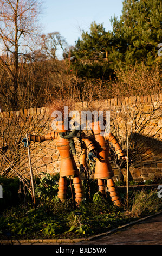
<svg viewBox="0 0 162 256"><path fill-rule="evenodd" d="M92 184L94 188L92 198L85 198L75 206L70 195L70 188L68 198L61 202L57 198L57 182L54 178L49 176L45 187L43 187L44 179L43 182L35 187L35 211L31 195L28 194L28 196L25 195L26 201L23 200L21 204L14 206L8 205L1 212L1 240L86 238L152 215L160 211L162 206L161 198L157 196L157 184L129 186L128 204L126 203L126 187L117 187L123 205L122 208L118 208L113 205L108 193L106 197L95 191L94 183Z"/></svg>

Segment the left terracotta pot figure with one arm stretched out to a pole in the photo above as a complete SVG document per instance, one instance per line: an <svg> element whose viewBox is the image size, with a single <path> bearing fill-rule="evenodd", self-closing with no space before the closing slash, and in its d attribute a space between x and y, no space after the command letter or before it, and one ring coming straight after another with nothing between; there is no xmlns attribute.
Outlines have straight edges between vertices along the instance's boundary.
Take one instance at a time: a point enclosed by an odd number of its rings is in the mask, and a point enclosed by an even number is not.
<svg viewBox="0 0 162 256"><path fill-rule="evenodd" d="M74 176L73 183L75 188L75 200L76 202L81 202L83 199L83 189L82 182L79 175L79 170L77 169L73 154L72 154L72 141L67 139L68 136L64 136L67 130L64 129L63 121L59 121L56 123L57 130L56 132L50 132L47 135L35 136L29 135L29 141L33 142L43 142L47 140L56 139L57 149L59 150L61 156L61 166L60 166L60 180L59 180L59 191L58 197L60 200L66 199L66 176ZM81 136L83 142L86 145L86 149L92 151L95 149L95 146L92 141L88 137L86 137L85 133L78 130L79 136ZM75 134L74 134L75 137Z"/></svg>

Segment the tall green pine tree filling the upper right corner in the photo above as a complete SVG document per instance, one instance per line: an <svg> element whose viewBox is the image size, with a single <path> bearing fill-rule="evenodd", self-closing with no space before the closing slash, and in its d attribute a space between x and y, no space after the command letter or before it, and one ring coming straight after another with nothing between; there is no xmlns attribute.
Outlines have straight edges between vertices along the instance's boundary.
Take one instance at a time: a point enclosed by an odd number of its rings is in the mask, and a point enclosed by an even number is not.
<svg viewBox="0 0 162 256"><path fill-rule="evenodd" d="M110 58L114 68L134 65L152 66L160 62L158 44L162 42L161 0L124 0L120 20L112 20L115 43Z"/></svg>

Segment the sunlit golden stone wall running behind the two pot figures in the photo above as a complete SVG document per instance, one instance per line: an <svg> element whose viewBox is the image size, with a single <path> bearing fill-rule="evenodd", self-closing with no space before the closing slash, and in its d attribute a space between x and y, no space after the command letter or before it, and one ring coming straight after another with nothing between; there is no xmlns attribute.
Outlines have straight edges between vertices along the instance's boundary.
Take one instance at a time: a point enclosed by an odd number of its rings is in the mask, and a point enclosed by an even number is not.
<svg viewBox="0 0 162 256"><path fill-rule="evenodd" d="M129 175L135 181L162 178L162 94L131 96L103 101L75 103L75 110L101 109L110 111L111 132L126 150L126 136L129 138L129 156L132 162ZM29 175L27 148L21 142L26 133L42 135L52 131L51 120L46 108L30 108L23 111L1 112L0 147L11 167L22 175ZM74 159L79 167L80 142L75 139ZM5 149L5 147L7 147ZM30 143L31 162L34 175L42 172L55 174L60 169L60 155L55 141ZM0 175L13 175L9 163L0 157ZM119 166L114 168L114 179L119 179ZM125 165L121 168L125 176Z"/></svg>

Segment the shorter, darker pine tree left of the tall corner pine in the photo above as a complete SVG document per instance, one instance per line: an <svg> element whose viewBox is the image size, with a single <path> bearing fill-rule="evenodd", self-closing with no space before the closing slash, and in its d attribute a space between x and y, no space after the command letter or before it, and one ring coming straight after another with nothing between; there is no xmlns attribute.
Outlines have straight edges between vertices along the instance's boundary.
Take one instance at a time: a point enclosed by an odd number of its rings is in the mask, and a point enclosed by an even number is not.
<svg viewBox="0 0 162 256"><path fill-rule="evenodd" d="M86 78L108 79L113 72L107 62L110 33L103 24L92 22L90 32L83 31L82 40L76 42L72 56L77 75Z"/></svg>

